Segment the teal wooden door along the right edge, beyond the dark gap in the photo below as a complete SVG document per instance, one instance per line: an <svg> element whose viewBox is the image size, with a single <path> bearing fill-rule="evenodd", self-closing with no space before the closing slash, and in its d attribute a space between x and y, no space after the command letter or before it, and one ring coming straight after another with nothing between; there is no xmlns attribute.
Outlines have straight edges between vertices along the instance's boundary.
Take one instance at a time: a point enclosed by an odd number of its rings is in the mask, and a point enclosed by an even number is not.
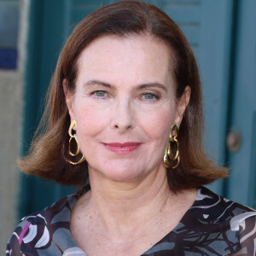
<svg viewBox="0 0 256 256"><path fill-rule="evenodd" d="M226 183L228 198L253 208L256 208L255 10L255 0L240 1L237 6L230 131L236 131L234 139L240 140L240 145L235 152L228 151L231 170Z"/></svg>

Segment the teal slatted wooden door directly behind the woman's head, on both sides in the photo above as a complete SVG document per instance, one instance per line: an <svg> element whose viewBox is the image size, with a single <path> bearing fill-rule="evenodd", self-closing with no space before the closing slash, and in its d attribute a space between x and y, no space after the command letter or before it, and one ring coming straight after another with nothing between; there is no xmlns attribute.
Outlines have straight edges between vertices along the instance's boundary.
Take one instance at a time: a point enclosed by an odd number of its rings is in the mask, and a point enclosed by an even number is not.
<svg viewBox="0 0 256 256"><path fill-rule="evenodd" d="M205 96L206 141L209 142L206 145L218 164L223 165L234 2L228 0L153 0L152 2L166 11L181 26L195 51L201 69ZM42 114L44 94L61 45L73 26L101 5L102 1L99 0L31 1L22 154L26 154L32 133ZM75 189L44 182L37 177L22 175L20 180L22 193L20 193L19 217L46 207ZM211 188L222 194L223 182L213 183Z"/></svg>

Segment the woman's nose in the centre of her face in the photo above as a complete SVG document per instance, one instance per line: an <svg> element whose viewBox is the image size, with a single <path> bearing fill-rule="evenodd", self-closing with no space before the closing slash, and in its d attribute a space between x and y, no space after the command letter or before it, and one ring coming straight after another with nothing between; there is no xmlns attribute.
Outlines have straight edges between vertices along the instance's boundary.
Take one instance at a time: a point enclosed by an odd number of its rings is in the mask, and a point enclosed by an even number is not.
<svg viewBox="0 0 256 256"><path fill-rule="evenodd" d="M134 127L133 113L130 102L118 102L113 109L111 128L127 131Z"/></svg>

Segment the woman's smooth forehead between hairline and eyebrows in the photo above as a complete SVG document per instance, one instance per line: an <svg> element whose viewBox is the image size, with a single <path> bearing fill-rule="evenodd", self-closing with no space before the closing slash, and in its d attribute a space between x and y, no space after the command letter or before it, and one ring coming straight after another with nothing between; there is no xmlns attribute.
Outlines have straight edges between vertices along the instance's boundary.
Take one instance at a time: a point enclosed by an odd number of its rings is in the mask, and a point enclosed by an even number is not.
<svg viewBox="0 0 256 256"><path fill-rule="evenodd" d="M172 76L172 62L172 49L160 38L108 35L92 41L82 51L78 79L120 82L129 78L137 83L145 79L163 83Z"/></svg>

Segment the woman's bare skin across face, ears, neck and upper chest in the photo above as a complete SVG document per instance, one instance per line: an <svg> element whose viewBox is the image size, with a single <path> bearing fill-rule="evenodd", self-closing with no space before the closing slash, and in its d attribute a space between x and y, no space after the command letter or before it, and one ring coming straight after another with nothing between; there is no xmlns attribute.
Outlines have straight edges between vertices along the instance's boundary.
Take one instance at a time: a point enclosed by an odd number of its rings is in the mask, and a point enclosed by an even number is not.
<svg viewBox="0 0 256 256"><path fill-rule="evenodd" d="M79 57L75 93L65 92L91 186L73 207L73 237L87 255L142 254L196 195L172 194L163 165L171 126L180 125L190 96L187 86L175 97L172 50L149 35L98 38ZM136 144L109 147L127 142Z"/></svg>

